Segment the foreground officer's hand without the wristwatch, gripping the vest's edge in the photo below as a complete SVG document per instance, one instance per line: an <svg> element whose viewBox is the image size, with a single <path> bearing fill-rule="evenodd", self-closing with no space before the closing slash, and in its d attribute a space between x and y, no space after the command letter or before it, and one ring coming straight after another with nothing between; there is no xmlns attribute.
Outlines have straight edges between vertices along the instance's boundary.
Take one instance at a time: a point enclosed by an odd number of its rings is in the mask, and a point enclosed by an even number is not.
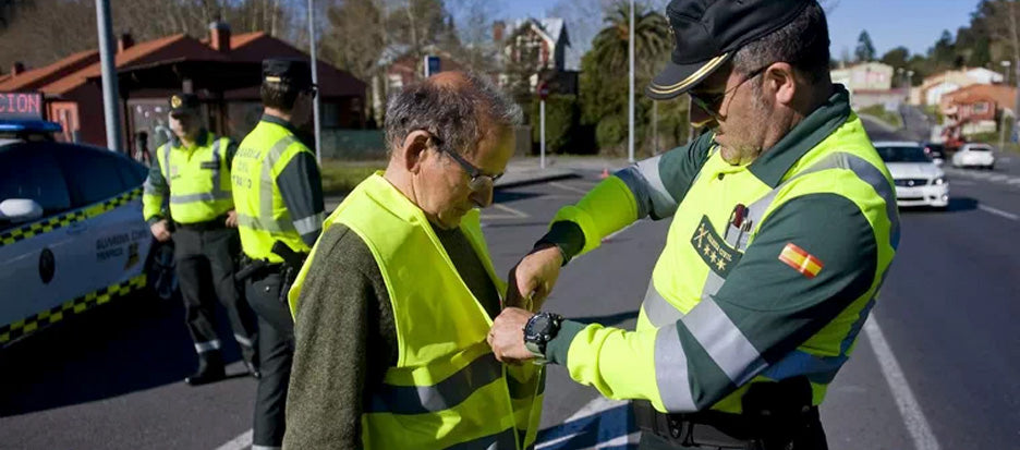
<svg viewBox="0 0 1020 450"><path fill-rule="evenodd" d="M563 255L556 245L532 251L510 269L506 306L538 312L552 292L562 265Z"/></svg>

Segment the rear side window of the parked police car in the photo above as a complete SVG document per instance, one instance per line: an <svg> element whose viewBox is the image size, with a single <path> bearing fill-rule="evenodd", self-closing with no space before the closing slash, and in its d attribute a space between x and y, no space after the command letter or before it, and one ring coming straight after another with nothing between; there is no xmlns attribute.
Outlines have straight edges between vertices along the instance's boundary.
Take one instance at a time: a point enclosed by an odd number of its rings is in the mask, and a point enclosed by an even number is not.
<svg viewBox="0 0 1020 450"><path fill-rule="evenodd" d="M75 208L107 198L134 187L129 186L118 168L117 155L93 147L58 144L54 155L63 169Z"/></svg>

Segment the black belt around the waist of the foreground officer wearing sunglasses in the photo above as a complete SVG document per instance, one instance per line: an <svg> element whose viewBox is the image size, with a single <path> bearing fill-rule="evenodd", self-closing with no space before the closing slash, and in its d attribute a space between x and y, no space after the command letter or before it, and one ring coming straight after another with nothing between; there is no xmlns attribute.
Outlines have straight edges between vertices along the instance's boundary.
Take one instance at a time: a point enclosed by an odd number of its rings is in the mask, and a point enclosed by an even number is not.
<svg viewBox="0 0 1020 450"><path fill-rule="evenodd" d="M786 423L780 426L789 431L789 436L780 437L792 439L793 434L814 417L818 416L817 406L810 406L798 418L788 421L801 421L803 424ZM652 403L644 400L634 401L634 416L638 427L642 433L652 433L666 439L671 443L679 446L719 449L755 449L762 445L763 440L769 439L769 435L780 434L781 430L765 430L763 424L752 422L753 418L741 415L730 414L719 411L701 411L690 414L667 414L660 413L652 406ZM775 438L776 436L770 436ZM769 439L770 440L770 439Z"/></svg>

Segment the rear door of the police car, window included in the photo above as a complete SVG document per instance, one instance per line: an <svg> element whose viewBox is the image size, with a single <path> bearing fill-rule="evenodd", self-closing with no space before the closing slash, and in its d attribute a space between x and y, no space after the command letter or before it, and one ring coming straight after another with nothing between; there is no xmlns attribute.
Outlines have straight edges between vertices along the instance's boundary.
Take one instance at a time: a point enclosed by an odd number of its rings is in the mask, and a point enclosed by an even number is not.
<svg viewBox="0 0 1020 450"><path fill-rule="evenodd" d="M142 219L144 168L121 155L88 146L64 145L56 156L72 205L88 216L75 264L89 280L89 292L144 285L139 277L151 245L151 233Z"/></svg>

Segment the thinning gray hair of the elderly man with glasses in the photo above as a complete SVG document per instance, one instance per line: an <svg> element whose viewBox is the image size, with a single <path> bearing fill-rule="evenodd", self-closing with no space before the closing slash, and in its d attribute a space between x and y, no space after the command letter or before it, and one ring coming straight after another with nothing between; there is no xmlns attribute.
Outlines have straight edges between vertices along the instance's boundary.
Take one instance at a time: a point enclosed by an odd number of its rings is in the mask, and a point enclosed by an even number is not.
<svg viewBox="0 0 1020 450"><path fill-rule="evenodd" d="M425 80L393 96L386 108L386 142L400 148L424 130L444 149L471 156L486 133L521 124L521 108L493 82L463 73L464 83Z"/></svg>

